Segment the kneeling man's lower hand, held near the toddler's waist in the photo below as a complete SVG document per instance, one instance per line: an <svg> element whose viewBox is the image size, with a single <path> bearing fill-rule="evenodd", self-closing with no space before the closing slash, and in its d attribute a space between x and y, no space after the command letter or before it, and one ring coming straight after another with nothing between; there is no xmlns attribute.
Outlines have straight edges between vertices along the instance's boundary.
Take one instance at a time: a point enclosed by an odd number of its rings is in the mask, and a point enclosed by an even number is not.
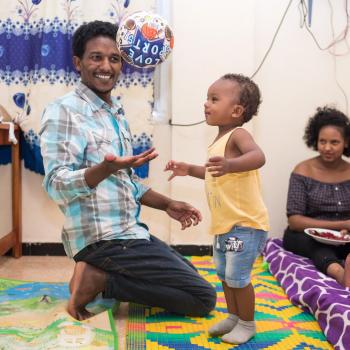
<svg viewBox="0 0 350 350"><path fill-rule="evenodd" d="M196 226L202 221L202 215L199 210L185 202L172 200L166 208L168 215L181 223L181 230L190 226Z"/></svg>

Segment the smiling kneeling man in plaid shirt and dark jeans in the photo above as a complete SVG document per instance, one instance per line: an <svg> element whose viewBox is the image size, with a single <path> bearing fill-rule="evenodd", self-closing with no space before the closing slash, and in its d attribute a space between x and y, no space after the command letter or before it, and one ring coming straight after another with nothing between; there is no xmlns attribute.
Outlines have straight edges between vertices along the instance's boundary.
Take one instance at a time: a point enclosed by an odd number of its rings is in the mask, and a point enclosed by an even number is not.
<svg viewBox="0 0 350 350"><path fill-rule="evenodd" d="M131 135L111 96L120 70L117 28L94 21L73 36L73 62L81 82L51 103L42 119L43 186L65 215L62 240L76 267L68 312L91 316L98 293L191 316L215 307L216 293L186 259L152 236L139 220L141 204L164 210L182 229L200 212L137 182L133 167L154 159L132 155Z"/></svg>

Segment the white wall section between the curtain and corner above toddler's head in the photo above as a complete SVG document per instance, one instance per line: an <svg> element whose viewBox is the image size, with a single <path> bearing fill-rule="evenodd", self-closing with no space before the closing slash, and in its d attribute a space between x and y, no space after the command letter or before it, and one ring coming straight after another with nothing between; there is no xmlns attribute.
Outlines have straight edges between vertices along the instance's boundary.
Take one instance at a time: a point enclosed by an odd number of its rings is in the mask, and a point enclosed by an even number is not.
<svg viewBox="0 0 350 350"><path fill-rule="evenodd" d="M172 72L172 121L189 124L204 119L209 85L236 70L248 74L254 64L254 2L252 0L173 1L175 50ZM204 164L208 144L217 130L205 123L172 128L175 160ZM203 213L203 223L181 232L172 223L172 244L210 244L209 211L204 183L195 178L172 180L172 196L190 201Z"/></svg>

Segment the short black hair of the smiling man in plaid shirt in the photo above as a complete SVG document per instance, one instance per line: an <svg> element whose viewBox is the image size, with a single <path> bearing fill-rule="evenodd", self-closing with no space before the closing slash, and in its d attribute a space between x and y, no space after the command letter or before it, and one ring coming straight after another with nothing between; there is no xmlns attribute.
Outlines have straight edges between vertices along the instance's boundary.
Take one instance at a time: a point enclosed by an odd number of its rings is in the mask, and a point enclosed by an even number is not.
<svg viewBox="0 0 350 350"><path fill-rule="evenodd" d="M72 51L73 56L82 58L86 43L97 36L105 36L116 40L118 27L110 22L93 21L82 24L73 34Z"/></svg>

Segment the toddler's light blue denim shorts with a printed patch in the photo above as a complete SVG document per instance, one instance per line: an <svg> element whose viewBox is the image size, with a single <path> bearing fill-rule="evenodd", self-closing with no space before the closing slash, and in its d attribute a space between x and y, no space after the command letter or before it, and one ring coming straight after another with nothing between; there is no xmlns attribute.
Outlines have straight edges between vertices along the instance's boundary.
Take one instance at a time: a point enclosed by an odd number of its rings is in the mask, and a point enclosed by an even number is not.
<svg viewBox="0 0 350 350"><path fill-rule="evenodd" d="M247 286L254 261L262 253L266 240L266 231L242 226L216 235L213 256L219 279L231 288Z"/></svg>

